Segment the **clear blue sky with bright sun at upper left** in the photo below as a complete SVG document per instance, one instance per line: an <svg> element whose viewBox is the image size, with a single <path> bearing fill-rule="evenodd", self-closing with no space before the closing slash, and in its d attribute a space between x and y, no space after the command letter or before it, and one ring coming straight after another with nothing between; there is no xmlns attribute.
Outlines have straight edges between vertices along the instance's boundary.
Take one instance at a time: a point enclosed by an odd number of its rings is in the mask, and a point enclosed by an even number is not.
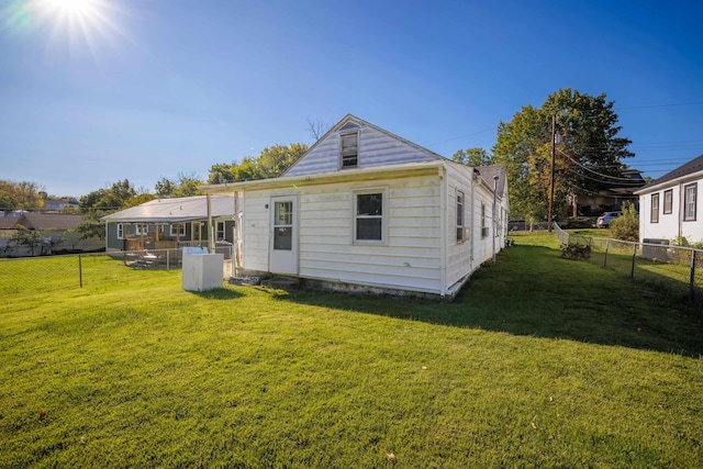
<svg viewBox="0 0 703 469"><path fill-rule="evenodd" d="M82 2L0 0L0 179L154 191L347 113L451 157L560 88L645 176L703 154L700 1Z"/></svg>

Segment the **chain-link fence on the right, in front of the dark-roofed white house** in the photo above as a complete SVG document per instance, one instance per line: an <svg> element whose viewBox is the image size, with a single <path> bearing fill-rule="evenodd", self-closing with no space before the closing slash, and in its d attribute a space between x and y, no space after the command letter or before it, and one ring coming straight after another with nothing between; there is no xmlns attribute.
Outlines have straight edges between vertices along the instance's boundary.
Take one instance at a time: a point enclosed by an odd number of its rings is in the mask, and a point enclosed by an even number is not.
<svg viewBox="0 0 703 469"><path fill-rule="evenodd" d="M590 263L657 287L662 297L703 304L703 250L573 235L554 224L562 245L590 246Z"/></svg>

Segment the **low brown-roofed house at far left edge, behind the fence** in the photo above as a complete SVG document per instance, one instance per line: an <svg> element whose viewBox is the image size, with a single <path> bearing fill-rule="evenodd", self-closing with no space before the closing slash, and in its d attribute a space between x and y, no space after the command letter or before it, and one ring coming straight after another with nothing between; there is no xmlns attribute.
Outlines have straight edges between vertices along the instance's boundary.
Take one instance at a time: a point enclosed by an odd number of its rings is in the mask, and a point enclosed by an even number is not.
<svg viewBox="0 0 703 469"><path fill-rule="evenodd" d="M27 257L48 254L93 252L103 248L100 238L82 239L76 228L82 215L22 212L19 216L0 217L0 257ZM40 232L34 247L12 241L20 230Z"/></svg>

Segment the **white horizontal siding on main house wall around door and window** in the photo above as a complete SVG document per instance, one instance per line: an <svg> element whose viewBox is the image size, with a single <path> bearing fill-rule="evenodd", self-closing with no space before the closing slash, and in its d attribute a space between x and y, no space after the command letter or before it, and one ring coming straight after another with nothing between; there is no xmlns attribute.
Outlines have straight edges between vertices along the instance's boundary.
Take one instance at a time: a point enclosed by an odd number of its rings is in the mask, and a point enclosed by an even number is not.
<svg viewBox="0 0 703 469"><path fill-rule="evenodd" d="M383 245L354 243L354 191L387 192L387 239ZM299 196L299 276L438 292L439 180L436 176L311 186ZM272 196L290 191L248 191L245 196L243 266L267 271Z"/></svg>

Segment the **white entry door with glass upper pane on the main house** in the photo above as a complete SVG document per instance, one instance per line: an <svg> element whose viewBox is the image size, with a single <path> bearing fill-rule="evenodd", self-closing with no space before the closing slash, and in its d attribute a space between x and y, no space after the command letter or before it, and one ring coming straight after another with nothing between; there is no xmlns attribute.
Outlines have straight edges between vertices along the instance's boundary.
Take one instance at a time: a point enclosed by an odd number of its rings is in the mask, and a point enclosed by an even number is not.
<svg viewBox="0 0 703 469"><path fill-rule="evenodd" d="M271 198L269 271L298 275L298 198Z"/></svg>

